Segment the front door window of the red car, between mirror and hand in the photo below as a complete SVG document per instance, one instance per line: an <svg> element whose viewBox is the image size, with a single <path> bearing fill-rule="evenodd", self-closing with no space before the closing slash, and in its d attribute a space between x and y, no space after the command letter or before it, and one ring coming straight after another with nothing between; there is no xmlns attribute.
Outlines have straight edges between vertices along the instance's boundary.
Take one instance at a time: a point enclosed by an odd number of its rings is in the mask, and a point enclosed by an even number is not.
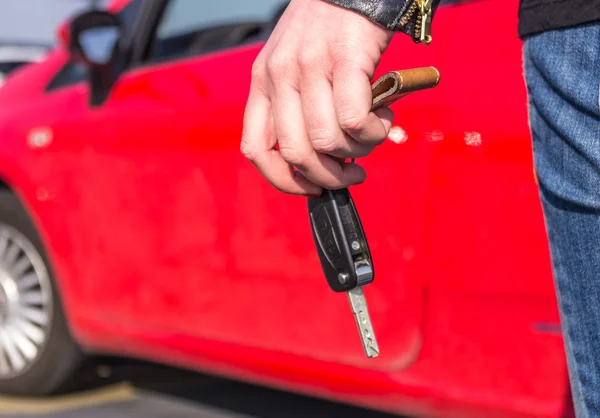
<svg viewBox="0 0 600 418"><path fill-rule="evenodd" d="M286 0L171 0L148 61L164 62L266 39Z"/></svg>

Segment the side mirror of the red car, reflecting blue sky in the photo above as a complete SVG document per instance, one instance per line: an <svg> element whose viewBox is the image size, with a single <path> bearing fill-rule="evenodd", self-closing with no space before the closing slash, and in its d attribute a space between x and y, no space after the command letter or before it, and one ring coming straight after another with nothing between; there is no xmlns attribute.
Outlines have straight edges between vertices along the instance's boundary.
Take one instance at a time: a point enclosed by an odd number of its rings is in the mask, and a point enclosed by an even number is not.
<svg viewBox="0 0 600 418"><path fill-rule="evenodd" d="M92 106L106 100L117 79L121 35L119 19L105 11L83 13L69 25L69 52L88 70Z"/></svg>

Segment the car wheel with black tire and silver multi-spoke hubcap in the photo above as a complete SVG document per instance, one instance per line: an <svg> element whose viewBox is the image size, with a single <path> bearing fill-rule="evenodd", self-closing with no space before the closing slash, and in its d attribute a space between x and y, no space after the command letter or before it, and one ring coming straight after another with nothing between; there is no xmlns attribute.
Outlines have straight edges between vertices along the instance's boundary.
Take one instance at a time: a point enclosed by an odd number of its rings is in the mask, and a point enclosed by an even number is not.
<svg viewBox="0 0 600 418"><path fill-rule="evenodd" d="M82 361L35 227L17 197L0 190L0 393L54 394Z"/></svg>

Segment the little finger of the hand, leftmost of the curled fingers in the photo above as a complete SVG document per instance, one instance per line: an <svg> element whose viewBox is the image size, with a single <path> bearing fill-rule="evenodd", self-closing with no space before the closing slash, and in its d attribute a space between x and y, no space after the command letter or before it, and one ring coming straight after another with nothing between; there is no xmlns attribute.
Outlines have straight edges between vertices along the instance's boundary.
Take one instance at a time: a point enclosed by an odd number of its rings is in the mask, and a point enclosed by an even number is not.
<svg viewBox="0 0 600 418"><path fill-rule="evenodd" d="M275 145L271 103L265 95L251 89L244 115L242 154L278 190L294 195L320 195L321 187L303 175L295 175Z"/></svg>

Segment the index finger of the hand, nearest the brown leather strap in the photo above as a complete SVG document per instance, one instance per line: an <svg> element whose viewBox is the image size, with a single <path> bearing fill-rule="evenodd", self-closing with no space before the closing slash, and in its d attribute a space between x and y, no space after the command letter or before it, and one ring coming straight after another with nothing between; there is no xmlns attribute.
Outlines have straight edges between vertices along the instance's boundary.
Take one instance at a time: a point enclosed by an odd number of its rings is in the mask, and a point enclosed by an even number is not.
<svg viewBox="0 0 600 418"><path fill-rule="evenodd" d="M391 121L382 121L385 111L371 112L373 93L369 76L360 69L335 71L333 97L341 129L361 144L381 144L391 127Z"/></svg>

